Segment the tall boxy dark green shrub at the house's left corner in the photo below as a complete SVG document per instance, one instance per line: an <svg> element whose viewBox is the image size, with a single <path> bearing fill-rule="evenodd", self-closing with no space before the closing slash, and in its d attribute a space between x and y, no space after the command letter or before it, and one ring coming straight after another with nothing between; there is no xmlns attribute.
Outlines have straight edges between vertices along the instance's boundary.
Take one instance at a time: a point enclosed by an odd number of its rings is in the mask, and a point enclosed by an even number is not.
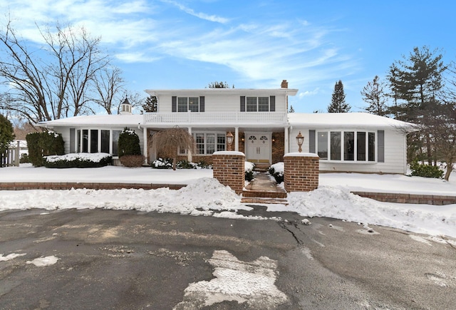
<svg viewBox="0 0 456 310"><path fill-rule="evenodd" d="M43 133L28 133L26 135L28 158L35 167L41 167L46 160L45 156L63 155L63 138L60 133L45 131Z"/></svg>

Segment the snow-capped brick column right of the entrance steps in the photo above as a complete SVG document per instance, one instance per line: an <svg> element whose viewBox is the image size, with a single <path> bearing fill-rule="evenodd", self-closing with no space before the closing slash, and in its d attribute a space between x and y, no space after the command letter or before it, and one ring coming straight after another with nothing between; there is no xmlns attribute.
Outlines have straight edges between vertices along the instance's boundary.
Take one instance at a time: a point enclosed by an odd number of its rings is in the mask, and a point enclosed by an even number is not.
<svg viewBox="0 0 456 310"><path fill-rule="evenodd" d="M284 185L286 192L310 192L318 187L320 157L314 153L284 155Z"/></svg>

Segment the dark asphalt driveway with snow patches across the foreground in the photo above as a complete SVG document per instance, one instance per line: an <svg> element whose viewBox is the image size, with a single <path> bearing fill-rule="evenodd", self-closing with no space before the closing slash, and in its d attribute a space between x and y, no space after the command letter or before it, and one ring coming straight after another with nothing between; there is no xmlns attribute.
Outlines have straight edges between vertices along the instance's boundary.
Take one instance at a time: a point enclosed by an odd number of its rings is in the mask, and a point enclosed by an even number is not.
<svg viewBox="0 0 456 310"><path fill-rule="evenodd" d="M455 309L454 239L276 216L0 212L0 309Z"/></svg>

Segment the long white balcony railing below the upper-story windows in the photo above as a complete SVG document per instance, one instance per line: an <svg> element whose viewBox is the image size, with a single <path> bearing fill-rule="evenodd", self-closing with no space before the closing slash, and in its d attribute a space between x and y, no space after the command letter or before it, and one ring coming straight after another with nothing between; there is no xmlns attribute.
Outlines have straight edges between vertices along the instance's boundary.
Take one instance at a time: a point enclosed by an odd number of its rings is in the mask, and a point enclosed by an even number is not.
<svg viewBox="0 0 456 310"><path fill-rule="evenodd" d="M286 113L281 112L187 112L146 113L145 124L286 124Z"/></svg>

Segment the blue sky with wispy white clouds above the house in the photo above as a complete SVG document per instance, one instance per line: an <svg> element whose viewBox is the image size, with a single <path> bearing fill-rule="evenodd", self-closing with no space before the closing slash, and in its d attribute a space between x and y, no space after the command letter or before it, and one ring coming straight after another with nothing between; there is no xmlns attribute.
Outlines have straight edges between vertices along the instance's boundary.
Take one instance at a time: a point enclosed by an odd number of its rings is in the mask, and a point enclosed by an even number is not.
<svg viewBox="0 0 456 310"><path fill-rule="evenodd" d="M415 46L456 61L452 0L0 0L0 11L31 40L36 24L55 21L101 36L130 91L286 79L304 113L326 112L338 80L351 110L362 110L362 88Z"/></svg>

